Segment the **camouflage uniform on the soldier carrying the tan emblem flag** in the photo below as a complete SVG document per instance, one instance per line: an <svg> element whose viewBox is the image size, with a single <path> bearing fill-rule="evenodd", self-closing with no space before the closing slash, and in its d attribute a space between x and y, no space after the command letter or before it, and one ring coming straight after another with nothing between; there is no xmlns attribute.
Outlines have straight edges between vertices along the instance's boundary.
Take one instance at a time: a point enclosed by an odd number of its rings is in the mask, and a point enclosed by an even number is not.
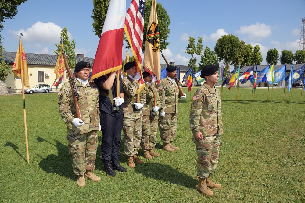
<svg viewBox="0 0 305 203"><path fill-rule="evenodd" d="M141 147L143 151L147 151L149 149L154 149L156 145L156 134L158 129L158 115L151 116L150 112L152 108L155 106L155 90L156 90L156 82L152 82L152 85L149 86L145 83L146 92L146 104L142 108L143 111L143 128L142 128L142 138L141 138ZM156 106L160 108L160 96L159 93L156 92Z"/></svg>

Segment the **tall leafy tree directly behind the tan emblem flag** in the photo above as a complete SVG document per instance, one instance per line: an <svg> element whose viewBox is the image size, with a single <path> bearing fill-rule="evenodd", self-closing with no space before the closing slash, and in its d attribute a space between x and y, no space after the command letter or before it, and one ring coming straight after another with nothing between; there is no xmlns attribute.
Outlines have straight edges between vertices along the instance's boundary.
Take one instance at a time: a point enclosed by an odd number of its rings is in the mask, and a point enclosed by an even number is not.
<svg viewBox="0 0 305 203"><path fill-rule="evenodd" d="M145 9L144 9L144 30L143 30L143 44L142 50L145 50L145 41L146 41L146 33L150 16L150 10L152 7L152 0L145 1ZM162 7L161 3L157 3L157 16L158 16L158 24L159 24L159 33L160 33L160 50L164 50L167 48L167 45L170 43L167 42L168 34L170 33L170 29L168 26L170 25L170 17L167 14L167 11Z"/></svg>

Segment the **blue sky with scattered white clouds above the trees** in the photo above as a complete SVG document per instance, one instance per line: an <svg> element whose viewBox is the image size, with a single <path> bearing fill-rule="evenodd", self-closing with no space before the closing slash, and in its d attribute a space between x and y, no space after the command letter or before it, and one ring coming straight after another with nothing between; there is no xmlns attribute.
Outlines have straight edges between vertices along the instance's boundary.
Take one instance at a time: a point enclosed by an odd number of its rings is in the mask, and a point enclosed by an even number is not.
<svg viewBox="0 0 305 203"><path fill-rule="evenodd" d="M73 4L71 4L73 2ZM127 9L131 0L127 0ZM266 63L269 49L284 49L295 53L299 49L300 24L305 17L305 0L292 1L182 1L157 0L170 16L170 34L167 50L163 51L169 62L188 65L190 55L185 54L188 37L203 37L203 51L211 50L224 34L235 34L239 40L253 47L258 44ZM88 0L28 0L18 7L14 19L7 19L2 30L5 51L17 51L18 30L23 33L25 52L54 54L60 31L66 27L70 41L76 41L76 53L95 57L99 38L92 31L93 3ZM144 28L146 30L147 28ZM123 56L126 56L126 45ZM130 51L130 50L128 50ZM203 54L202 51L202 54ZM129 52L131 54L131 52ZM200 61L200 57L198 57ZM161 57L161 63L165 63Z"/></svg>

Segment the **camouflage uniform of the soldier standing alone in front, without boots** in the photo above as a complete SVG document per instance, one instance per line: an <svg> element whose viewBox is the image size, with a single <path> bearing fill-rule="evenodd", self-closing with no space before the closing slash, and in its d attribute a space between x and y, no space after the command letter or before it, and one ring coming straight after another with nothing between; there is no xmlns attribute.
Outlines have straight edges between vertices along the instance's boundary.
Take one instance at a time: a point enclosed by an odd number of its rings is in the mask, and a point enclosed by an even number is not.
<svg viewBox="0 0 305 203"><path fill-rule="evenodd" d="M221 97L219 90L206 83L193 96L190 127L193 142L197 149L197 178L213 175L218 163L221 135L223 134L221 117ZM194 135L201 132L199 140Z"/></svg>

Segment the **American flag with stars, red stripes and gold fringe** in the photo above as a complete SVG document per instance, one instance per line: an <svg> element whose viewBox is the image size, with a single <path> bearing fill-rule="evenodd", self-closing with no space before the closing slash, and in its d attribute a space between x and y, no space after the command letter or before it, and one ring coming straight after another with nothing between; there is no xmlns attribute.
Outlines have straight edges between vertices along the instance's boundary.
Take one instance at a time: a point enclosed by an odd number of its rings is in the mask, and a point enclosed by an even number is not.
<svg viewBox="0 0 305 203"><path fill-rule="evenodd" d="M141 72L142 78L138 81L137 93L144 88L142 75L142 43L144 28L144 6L145 1L132 0L126 13L124 31L127 36L131 52L136 61L137 72Z"/></svg>

